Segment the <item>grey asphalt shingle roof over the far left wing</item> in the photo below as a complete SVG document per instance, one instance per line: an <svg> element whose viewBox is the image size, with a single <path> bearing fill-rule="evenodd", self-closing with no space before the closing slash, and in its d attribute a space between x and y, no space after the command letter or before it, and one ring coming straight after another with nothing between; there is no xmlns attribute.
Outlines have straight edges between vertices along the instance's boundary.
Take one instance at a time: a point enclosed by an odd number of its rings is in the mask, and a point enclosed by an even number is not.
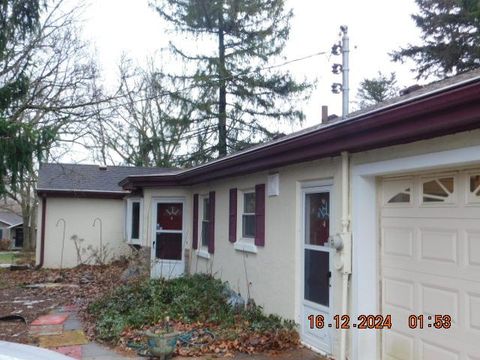
<svg viewBox="0 0 480 360"><path fill-rule="evenodd" d="M37 190L123 191L118 183L130 175L173 174L178 169L107 166L83 164L49 164L40 166Z"/></svg>

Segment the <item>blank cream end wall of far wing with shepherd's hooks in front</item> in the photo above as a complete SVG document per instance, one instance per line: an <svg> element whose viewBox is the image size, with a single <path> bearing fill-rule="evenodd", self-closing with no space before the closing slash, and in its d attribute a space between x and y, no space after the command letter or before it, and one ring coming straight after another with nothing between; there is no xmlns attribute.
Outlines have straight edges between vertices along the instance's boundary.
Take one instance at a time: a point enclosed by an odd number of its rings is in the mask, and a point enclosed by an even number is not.
<svg viewBox="0 0 480 360"><path fill-rule="evenodd" d="M37 231L37 264L40 261L40 237L42 234L42 201L38 209ZM75 243L71 239L73 235L84 239L81 248L82 259L86 260L92 253L87 248L100 248L100 225L95 218L102 220L102 242L108 248L109 259L128 254L123 232L124 226L124 202L112 199L76 199L76 198L47 198L45 229L45 268L59 268L62 257L63 222L66 223L65 243L63 250L63 267L78 265Z"/></svg>

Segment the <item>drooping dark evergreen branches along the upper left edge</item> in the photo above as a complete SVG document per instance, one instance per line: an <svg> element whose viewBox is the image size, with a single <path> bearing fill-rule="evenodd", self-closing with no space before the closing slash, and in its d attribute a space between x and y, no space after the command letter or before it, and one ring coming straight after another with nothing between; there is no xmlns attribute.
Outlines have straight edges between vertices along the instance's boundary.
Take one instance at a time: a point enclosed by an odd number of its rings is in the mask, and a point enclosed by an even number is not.
<svg viewBox="0 0 480 360"><path fill-rule="evenodd" d="M28 57L9 63L16 46L28 42L38 29L41 4L39 0L0 1L0 193L8 186L15 189L17 181L33 167L43 144L51 141L50 129L37 131L32 126L11 119L14 108L27 95L29 78L25 69Z"/></svg>

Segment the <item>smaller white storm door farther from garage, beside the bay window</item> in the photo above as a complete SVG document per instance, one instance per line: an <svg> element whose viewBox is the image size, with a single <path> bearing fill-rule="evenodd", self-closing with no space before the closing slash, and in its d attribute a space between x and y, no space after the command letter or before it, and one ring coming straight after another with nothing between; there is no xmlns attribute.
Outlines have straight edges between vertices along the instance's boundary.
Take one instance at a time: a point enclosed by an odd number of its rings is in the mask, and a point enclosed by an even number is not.
<svg viewBox="0 0 480 360"><path fill-rule="evenodd" d="M155 200L151 277L173 278L185 271L184 200Z"/></svg>

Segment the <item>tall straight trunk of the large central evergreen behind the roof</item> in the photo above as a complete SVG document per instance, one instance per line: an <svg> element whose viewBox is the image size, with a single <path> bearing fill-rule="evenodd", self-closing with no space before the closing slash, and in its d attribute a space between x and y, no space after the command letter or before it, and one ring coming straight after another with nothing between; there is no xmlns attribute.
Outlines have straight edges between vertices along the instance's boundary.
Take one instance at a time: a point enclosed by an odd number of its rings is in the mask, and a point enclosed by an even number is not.
<svg viewBox="0 0 480 360"><path fill-rule="evenodd" d="M218 156L227 155L227 81L225 71L225 40L223 14L218 19L218 77L220 82L218 96Z"/></svg>

